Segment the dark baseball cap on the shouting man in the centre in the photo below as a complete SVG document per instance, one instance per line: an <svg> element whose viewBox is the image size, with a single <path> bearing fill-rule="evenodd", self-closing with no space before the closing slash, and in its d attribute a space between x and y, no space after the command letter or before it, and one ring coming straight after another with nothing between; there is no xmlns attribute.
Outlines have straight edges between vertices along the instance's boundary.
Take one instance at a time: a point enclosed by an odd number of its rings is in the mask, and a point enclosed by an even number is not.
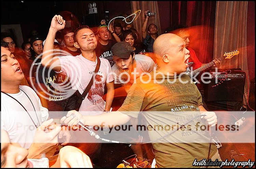
<svg viewBox="0 0 256 169"><path fill-rule="evenodd" d="M118 42L114 44L111 48L114 62L119 59L129 59L130 55L133 53L132 47L128 42Z"/></svg>

